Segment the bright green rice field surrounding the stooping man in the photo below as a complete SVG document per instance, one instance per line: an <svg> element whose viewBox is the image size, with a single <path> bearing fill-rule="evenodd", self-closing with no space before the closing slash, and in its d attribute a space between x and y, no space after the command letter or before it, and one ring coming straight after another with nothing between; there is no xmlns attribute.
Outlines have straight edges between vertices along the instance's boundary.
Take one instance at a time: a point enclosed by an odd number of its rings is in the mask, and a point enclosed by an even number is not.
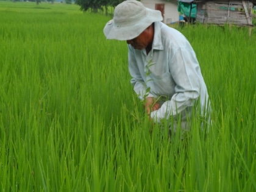
<svg viewBox="0 0 256 192"><path fill-rule="evenodd" d="M212 102L183 140L152 126L111 16L0 1L0 191L256 191L256 29L177 27Z"/></svg>

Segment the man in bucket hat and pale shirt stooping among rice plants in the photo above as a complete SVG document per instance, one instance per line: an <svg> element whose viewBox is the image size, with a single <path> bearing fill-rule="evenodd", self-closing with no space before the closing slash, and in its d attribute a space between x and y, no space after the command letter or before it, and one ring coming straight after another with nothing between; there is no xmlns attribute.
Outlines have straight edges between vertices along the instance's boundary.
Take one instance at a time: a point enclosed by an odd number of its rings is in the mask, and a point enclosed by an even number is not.
<svg viewBox="0 0 256 192"><path fill-rule="evenodd" d="M166 26L161 12L127 0L117 5L113 20L104 27L107 39L126 40L131 84L145 101L146 113L155 122L181 117L189 129L192 108L210 108L201 69L188 40ZM176 131L176 124L171 129Z"/></svg>

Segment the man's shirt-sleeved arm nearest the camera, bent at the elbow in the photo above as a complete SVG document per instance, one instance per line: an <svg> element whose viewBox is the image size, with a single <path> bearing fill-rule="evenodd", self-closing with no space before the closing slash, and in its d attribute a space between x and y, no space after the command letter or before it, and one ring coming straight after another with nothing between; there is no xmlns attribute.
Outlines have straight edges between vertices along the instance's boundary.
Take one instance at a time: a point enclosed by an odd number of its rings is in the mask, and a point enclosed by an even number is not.
<svg viewBox="0 0 256 192"><path fill-rule="evenodd" d="M151 118L155 122L176 116L187 107L191 107L193 101L199 98L201 76L198 70L200 71L199 63L192 48L179 48L175 51L169 61L169 71L176 82L176 93L158 110L151 112Z"/></svg>

